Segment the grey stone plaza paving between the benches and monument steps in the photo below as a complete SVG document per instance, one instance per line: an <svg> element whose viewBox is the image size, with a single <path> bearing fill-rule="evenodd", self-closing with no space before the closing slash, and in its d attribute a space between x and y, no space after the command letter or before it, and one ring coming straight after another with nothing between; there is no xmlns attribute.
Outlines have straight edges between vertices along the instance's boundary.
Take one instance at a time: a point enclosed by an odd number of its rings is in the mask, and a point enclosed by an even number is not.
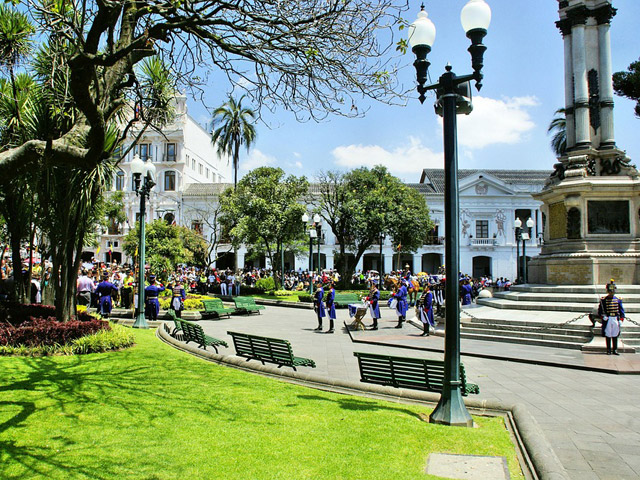
<svg viewBox="0 0 640 480"><path fill-rule="evenodd" d="M386 309L385 309L386 310ZM206 333L229 341L230 348L221 353L233 354L228 330L288 339L296 355L312 358L314 373L351 381L359 380L354 351L387 353L421 358L442 358L437 351L437 337L419 337L411 325L393 328L393 312L383 311L377 332L357 335L387 337L377 344L354 343L343 322L349 321L345 310L338 311L334 334L317 333L313 311L267 307L262 315L233 316L231 319L203 320ZM365 320L365 323L369 323ZM325 330L327 322L325 322ZM389 341L393 340L393 342ZM424 342L433 351L402 348ZM462 350L466 343L462 342ZM375 343L375 342L374 342ZM521 345L484 343L495 355L517 355ZM538 351L540 360L549 355L576 357L579 352L528 346L526 355ZM553 350L554 352L550 352ZM603 356L606 357L606 356ZM627 355L605 358L606 362L629 362ZM635 363L635 355L632 363ZM528 359L534 360L534 359ZM527 361L528 361L527 360ZM571 368L518 363L475 356L464 356L469 381L480 385L480 399L504 403L523 403L546 433L558 457L576 480L625 480L640 478L640 376L616 375ZM588 364L588 362L585 362Z"/></svg>

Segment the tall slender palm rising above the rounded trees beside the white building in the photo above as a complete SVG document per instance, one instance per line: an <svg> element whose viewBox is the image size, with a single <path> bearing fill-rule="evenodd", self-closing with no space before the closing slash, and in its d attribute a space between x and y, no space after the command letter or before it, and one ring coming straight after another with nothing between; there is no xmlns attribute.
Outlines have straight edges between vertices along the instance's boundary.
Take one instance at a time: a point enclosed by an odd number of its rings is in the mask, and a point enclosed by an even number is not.
<svg viewBox="0 0 640 480"><path fill-rule="evenodd" d="M256 128L253 125L256 114L248 107L242 106L242 100L236 101L231 95L229 100L213 112L213 125L218 125L211 134L211 143L217 144L218 155L229 155L233 158L233 189L238 183L238 164L240 147L244 145L249 152L256 140Z"/></svg>

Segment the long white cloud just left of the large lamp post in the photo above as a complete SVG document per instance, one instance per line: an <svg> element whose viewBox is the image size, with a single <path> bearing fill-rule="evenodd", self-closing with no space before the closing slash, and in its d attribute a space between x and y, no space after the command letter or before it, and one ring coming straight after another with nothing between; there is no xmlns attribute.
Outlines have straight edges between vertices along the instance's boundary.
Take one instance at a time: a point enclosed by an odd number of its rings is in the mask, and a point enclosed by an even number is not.
<svg viewBox="0 0 640 480"><path fill-rule="evenodd" d="M442 153L422 145L417 138L409 138L408 145L393 150L380 145L346 145L335 148L331 153L335 164L341 167L384 165L394 175L414 182L424 168L443 168Z"/></svg>

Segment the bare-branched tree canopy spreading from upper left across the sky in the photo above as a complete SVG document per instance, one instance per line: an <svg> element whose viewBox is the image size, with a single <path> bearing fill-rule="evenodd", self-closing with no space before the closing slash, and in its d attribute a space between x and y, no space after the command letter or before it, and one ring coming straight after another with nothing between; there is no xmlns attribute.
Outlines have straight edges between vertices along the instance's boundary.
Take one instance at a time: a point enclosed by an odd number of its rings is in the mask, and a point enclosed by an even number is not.
<svg viewBox="0 0 640 480"><path fill-rule="evenodd" d="M0 36L0 66L13 72L31 43L35 61L22 66L65 87L47 105L67 117L57 130L5 144L1 181L16 166L45 162L91 170L114 152L105 149L110 126L124 138L127 122L157 121L167 89L150 87L163 78L145 80L154 74L140 68L149 58L171 65L171 92L202 92L222 75L258 110L283 106L304 119L353 115L363 97L391 101L397 94L387 54L406 5L393 0L14 3L5 10L22 12L38 36L28 29Z"/></svg>

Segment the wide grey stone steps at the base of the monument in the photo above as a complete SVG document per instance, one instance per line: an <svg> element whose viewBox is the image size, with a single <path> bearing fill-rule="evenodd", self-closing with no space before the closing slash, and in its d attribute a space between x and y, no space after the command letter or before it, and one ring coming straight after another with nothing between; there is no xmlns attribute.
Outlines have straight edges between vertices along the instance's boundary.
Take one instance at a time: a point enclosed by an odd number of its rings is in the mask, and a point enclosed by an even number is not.
<svg viewBox="0 0 640 480"><path fill-rule="evenodd" d="M541 316L545 312L574 312L577 316L581 313L595 313L604 290L604 286L593 285L517 285L509 292L494 292L493 298L478 298L477 304L513 311L514 318L517 318L519 311L539 312ZM619 285L616 295L622 298L627 316L640 323L640 286ZM473 313L472 309L468 311ZM600 345L603 344L603 339L598 338L600 328L592 329L591 324L585 320L552 327L553 324L548 321L505 320L504 315L501 317L493 319L485 314L483 318L470 318L462 323L460 335L462 338L492 342L585 351L603 349ZM590 343L594 334L596 338ZM620 351L632 353L634 349L640 350L640 326L625 322L621 340L625 347Z"/></svg>

